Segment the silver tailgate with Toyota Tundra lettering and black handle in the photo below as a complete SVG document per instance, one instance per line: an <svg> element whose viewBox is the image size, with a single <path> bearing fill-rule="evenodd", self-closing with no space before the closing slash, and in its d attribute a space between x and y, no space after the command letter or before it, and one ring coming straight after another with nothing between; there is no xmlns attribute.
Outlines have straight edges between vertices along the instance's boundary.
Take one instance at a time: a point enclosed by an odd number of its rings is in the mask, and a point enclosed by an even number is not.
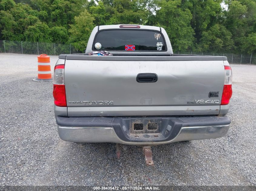
<svg viewBox="0 0 256 191"><path fill-rule="evenodd" d="M157 81L138 82L139 73ZM68 116L218 114L224 78L222 60L66 59Z"/></svg>

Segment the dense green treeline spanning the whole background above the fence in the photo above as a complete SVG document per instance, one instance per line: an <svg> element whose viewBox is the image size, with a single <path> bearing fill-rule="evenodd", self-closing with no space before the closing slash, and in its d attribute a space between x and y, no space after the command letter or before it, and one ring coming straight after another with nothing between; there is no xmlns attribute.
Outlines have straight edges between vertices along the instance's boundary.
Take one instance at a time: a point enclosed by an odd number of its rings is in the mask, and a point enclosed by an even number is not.
<svg viewBox="0 0 256 191"><path fill-rule="evenodd" d="M0 0L0 39L82 51L96 25L147 24L164 27L174 51L255 53L256 1L224 2L226 10L222 0Z"/></svg>

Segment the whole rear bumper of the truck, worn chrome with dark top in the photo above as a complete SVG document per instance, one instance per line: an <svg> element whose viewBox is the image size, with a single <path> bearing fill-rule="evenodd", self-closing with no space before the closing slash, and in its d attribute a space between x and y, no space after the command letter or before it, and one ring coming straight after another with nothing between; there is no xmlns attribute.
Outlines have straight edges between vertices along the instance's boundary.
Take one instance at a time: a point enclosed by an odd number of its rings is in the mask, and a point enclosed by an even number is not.
<svg viewBox="0 0 256 191"><path fill-rule="evenodd" d="M70 142L113 142L126 145L161 145L178 141L218 138L227 134L227 116L56 117L58 134ZM143 130L134 130L140 123ZM148 130L149 123L157 129Z"/></svg>

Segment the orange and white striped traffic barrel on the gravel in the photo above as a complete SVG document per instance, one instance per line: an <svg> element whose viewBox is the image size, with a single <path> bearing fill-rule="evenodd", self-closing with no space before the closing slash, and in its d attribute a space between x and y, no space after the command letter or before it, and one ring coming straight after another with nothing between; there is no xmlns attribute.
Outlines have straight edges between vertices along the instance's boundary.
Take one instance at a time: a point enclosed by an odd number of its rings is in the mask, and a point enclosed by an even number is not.
<svg viewBox="0 0 256 191"><path fill-rule="evenodd" d="M52 71L50 65L50 56L41 54L37 57L38 75L33 81L52 81Z"/></svg>

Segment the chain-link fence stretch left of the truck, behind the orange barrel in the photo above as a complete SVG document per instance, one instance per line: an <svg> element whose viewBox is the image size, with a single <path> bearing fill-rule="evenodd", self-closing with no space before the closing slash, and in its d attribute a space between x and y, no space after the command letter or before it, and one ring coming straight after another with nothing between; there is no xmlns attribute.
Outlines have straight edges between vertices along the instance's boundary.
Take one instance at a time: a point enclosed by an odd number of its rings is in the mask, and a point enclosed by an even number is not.
<svg viewBox="0 0 256 191"><path fill-rule="evenodd" d="M77 54L81 51L77 51L71 44L0 40L0 53L60 55Z"/></svg>

